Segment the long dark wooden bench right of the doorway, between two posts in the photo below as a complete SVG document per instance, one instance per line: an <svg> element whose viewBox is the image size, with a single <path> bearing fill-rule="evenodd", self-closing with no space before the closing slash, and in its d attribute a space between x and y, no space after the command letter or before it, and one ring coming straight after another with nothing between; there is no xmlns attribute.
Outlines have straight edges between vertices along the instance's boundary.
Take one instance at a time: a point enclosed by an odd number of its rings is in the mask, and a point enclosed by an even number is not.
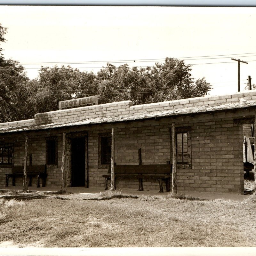
<svg viewBox="0 0 256 256"><path fill-rule="evenodd" d="M156 179L159 182L160 191L163 190L163 180L165 181L165 190L170 191L170 179L172 177L171 164L142 164L142 165L115 165L116 178L121 179L139 179L139 190L143 190L143 179ZM111 180L111 166L108 168L108 174L102 175L105 178L105 190L108 189L108 180ZM116 186L115 186L116 188Z"/></svg>

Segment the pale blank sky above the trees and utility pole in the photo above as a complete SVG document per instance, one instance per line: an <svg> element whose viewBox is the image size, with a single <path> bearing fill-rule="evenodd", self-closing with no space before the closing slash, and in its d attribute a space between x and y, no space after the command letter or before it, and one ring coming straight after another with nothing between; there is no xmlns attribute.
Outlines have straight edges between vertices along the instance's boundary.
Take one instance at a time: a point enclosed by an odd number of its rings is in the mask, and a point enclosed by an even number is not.
<svg viewBox="0 0 256 256"><path fill-rule="evenodd" d="M240 91L249 75L256 84L255 7L2 5L0 13L4 57L30 79L41 66L97 73L107 62L145 67L169 57L191 64L192 76L220 95L237 92L235 58L248 62L240 63Z"/></svg>

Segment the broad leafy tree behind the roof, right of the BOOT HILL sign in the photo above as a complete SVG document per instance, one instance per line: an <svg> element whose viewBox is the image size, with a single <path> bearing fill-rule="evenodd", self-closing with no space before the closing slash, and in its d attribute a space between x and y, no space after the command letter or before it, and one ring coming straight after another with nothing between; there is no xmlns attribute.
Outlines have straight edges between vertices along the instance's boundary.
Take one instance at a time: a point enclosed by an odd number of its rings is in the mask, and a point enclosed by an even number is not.
<svg viewBox="0 0 256 256"><path fill-rule="evenodd" d="M153 68L116 68L109 64L97 74L100 103L132 100L135 105L204 96L211 89L205 77L194 81L184 60L166 58Z"/></svg>

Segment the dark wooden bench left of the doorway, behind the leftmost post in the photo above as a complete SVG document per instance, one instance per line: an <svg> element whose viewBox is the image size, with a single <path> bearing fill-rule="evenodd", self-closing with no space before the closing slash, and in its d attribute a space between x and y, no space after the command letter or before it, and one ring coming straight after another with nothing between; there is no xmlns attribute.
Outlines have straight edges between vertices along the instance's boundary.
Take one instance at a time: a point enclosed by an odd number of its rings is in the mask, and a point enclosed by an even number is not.
<svg viewBox="0 0 256 256"><path fill-rule="evenodd" d="M40 178L42 179L42 187L45 187L46 181L46 165L27 166L27 177L29 178L28 187L32 186L32 177L36 177L37 188L40 188ZM13 166L12 173L5 174L5 186L9 185L9 178L12 178L12 186L15 186L15 178L23 177L23 166Z"/></svg>

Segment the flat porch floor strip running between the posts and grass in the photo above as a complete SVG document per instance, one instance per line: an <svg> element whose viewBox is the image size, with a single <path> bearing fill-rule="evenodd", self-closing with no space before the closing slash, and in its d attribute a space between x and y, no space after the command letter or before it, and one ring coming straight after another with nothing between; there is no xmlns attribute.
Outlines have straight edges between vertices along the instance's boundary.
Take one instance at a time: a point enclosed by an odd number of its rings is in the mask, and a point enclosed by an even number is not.
<svg viewBox="0 0 256 256"><path fill-rule="evenodd" d="M10 190L22 190L22 186L10 186L10 187L2 187L1 189L10 189ZM29 191L50 191L57 192L60 191L60 187L28 187ZM67 192L71 193L84 193L84 194L97 194L100 192L104 192L104 188L84 188L84 187L72 187L67 188ZM158 193L158 191L149 191L149 190L130 190L130 189L120 189L124 194L133 194L133 195L167 195L170 192ZM228 193L213 193L213 192L198 192L198 191L179 191L180 194L185 194L188 196L198 197L201 199L215 200L215 199L223 199L223 200L231 200L231 201L244 201L247 199L249 195L241 195L241 194L228 194Z"/></svg>

